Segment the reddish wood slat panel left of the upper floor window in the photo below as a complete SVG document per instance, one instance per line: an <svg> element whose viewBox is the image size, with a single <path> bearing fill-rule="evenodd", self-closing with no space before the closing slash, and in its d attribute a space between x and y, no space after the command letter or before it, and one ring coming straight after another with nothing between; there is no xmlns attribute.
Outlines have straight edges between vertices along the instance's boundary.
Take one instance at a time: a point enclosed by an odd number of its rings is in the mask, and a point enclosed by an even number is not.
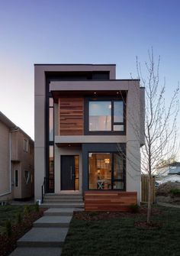
<svg viewBox="0 0 180 256"><path fill-rule="evenodd" d="M84 134L84 99L59 99L59 135Z"/></svg>

